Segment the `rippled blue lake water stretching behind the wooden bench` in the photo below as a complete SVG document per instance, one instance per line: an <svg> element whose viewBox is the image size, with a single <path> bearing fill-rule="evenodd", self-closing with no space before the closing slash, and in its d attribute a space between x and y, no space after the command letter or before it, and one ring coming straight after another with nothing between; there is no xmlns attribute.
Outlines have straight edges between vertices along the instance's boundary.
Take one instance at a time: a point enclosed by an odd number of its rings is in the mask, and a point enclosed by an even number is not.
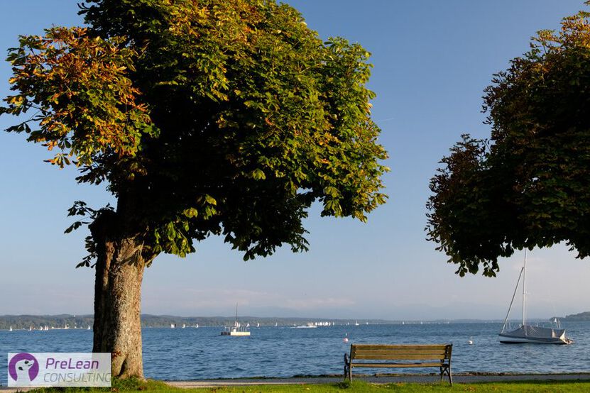
<svg viewBox="0 0 590 393"><path fill-rule="evenodd" d="M501 344L500 323L261 327L249 337L220 336L220 327L144 328L143 367L146 377L160 380L339 374L351 343L452 343L453 372L590 372L590 323L562 327L574 344ZM0 331L0 382L6 386L9 352L91 350L92 331Z"/></svg>

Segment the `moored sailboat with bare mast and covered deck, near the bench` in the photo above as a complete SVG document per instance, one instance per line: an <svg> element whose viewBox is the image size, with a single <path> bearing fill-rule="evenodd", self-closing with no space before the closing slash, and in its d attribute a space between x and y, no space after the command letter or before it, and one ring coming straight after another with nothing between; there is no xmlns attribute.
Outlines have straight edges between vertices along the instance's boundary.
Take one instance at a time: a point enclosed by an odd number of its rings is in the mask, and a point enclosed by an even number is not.
<svg viewBox="0 0 590 393"><path fill-rule="evenodd" d="M532 326L526 323L525 311L526 311L526 272L527 272L527 253L525 250L525 262L522 269L520 269L520 275L518 275L518 281L514 288L512 300L510 306L508 306L508 312L504 319L502 331L499 333L500 342L505 344L523 344L523 343L535 343L535 344L571 344L574 343L570 338L565 336L565 329L559 328L542 328L540 326ZM520 284L520 277L523 278L523 323L519 328L513 331L507 331L506 325L508 324L508 316L510 315L510 309L514 302L516 291L518 290L518 284Z"/></svg>

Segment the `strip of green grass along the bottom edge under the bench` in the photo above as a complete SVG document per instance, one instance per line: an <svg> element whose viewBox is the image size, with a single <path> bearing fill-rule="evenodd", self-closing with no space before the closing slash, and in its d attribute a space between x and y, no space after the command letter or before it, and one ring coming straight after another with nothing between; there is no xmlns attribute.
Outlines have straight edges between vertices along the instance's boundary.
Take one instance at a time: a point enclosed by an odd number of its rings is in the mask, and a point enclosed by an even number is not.
<svg viewBox="0 0 590 393"><path fill-rule="evenodd" d="M147 392L147 393L388 393L388 392L590 392L590 382L578 381L544 381L544 382L485 382L478 384L370 384L362 381L337 384L283 384L251 385L239 387L213 387L201 389L183 389L170 387L164 382L148 380L114 381L109 388L42 388L35 393L50 392Z"/></svg>

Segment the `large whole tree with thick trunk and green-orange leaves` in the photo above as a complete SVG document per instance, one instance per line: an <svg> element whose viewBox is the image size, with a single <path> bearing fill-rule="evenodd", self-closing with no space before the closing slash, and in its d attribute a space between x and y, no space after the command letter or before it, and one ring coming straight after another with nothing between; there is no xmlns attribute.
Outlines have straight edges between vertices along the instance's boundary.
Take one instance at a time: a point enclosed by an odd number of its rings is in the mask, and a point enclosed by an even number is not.
<svg viewBox="0 0 590 393"><path fill-rule="evenodd" d="M370 117L368 52L322 42L274 1L85 0L87 27L22 36L9 50L6 131L57 150L80 183L116 207L91 209L95 352L114 377L143 377L140 291L160 253L184 257L224 236L244 260L288 244L307 250L302 219L383 204L387 155Z"/></svg>

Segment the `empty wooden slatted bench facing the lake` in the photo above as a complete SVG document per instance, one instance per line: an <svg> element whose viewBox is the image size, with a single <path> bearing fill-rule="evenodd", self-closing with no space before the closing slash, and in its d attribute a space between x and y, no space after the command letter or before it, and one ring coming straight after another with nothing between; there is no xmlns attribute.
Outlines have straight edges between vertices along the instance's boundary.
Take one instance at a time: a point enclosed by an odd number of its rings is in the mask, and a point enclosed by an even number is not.
<svg viewBox="0 0 590 393"><path fill-rule="evenodd" d="M350 356L344 354L344 378L348 375L349 380L352 380L353 367L439 367L440 382L444 374L447 374L452 385L452 349L452 344L351 344Z"/></svg>

